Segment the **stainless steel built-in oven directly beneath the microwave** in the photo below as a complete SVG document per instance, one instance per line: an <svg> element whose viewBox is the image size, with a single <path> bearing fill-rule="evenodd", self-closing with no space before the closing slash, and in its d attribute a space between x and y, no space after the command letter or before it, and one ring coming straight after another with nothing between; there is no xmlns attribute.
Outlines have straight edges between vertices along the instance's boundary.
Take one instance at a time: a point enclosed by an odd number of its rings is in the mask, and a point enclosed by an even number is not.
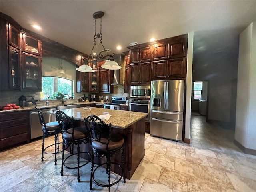
<svg viewBox="0 0 256 192"><path fill-rule="evenodd" d="M150 100L138 100L130 99L129 102L130 111L147 113L146 122L150 120Z"/></svg>

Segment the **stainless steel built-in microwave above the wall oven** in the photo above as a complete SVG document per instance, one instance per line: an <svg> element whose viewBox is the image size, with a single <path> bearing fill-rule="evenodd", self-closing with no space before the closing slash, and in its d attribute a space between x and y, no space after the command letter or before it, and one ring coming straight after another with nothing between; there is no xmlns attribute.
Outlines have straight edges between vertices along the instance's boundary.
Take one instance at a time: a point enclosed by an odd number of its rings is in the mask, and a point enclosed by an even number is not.
<svg viewBox="0 0 256 192"><path fill-rule="evenodd" d="M150 98L150 85L131 85L130 97Z"/></svg>

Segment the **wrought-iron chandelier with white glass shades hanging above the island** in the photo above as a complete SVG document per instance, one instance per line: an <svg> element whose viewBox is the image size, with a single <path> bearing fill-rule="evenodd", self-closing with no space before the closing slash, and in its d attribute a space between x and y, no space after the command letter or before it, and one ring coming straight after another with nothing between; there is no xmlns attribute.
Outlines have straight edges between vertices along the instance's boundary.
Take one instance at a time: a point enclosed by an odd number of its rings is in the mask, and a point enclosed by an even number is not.
<svg viewBox="0 0 256 192"><path fill-rule="evenodd" d="M102 44L102 32L101 32L101 18L104 16L104 12L98 11L95 12L93 15L93 18L95 19L95 33L94 33L94 44L92 47L91 54L88 56L87 59L84 59L82 62L82 65L79 66L79 68L76 68L76 70L81 72L94 72L94 70L88 66L88 63L92 62L100 62L100 61L106 61L101 67L104 69L110 69L110 70L117 70L120 69L121 66L118 65L117 62L114 61L114 59L117 59L115 57L115 53L112 53L111 55L108 54L107 50L104 48ZM96 19L100 18L100 34L96 34ZM93 52L94 47L97 45L97 52ZM103 50L99 52L99 46L102 46Z"/></svg>

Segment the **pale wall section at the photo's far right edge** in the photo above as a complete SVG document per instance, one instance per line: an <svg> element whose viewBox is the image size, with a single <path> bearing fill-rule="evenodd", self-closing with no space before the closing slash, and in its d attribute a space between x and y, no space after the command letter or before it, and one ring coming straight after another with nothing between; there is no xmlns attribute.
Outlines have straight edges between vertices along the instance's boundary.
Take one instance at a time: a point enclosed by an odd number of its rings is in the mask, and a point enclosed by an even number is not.
<svg viewBox="0 0 256 192"><path fill-rule="evenodd" d="M235 140L256 150L256 22L239 40Z"/></svg>

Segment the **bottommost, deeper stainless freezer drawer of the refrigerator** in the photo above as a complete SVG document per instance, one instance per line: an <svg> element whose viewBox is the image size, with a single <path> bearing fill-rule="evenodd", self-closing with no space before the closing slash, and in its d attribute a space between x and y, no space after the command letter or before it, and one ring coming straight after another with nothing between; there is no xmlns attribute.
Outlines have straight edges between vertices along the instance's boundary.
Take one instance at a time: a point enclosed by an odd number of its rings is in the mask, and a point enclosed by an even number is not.
<svg viewBox="0 0 256 192"><path fill-rule="evenodd" d="M150 117L150 135L182 142L182 121Z"/></svg>

